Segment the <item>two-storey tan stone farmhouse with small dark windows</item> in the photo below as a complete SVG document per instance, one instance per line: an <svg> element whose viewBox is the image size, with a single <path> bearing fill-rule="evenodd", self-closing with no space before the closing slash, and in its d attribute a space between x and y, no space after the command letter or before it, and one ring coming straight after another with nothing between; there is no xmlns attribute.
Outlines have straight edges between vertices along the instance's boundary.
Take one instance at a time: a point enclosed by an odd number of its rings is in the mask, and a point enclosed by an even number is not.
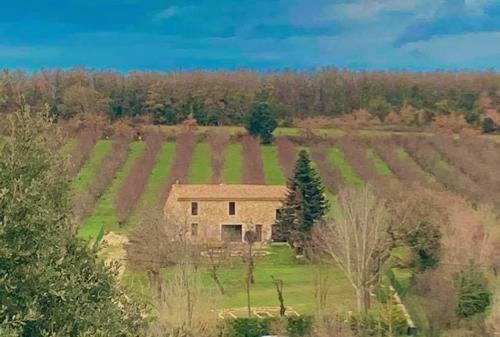
<svg viewBox="0 0 500 337"><path fill-rule="evenodd" d="M174 184L164 212L167 223L183 226L195 242L243 242L248 230L266 242L286 193L276 185Z"/></svg>

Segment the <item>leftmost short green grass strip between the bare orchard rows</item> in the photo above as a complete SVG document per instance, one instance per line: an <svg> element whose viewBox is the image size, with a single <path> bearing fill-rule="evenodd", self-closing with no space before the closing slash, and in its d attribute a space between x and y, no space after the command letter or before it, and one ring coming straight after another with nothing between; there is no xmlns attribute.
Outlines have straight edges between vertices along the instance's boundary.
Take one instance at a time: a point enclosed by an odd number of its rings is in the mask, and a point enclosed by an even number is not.
<svg viewBox="0 0 500 337"><path fill-rule="evenodd" d="M85 165L72 183L74 192L82 192L92 185L99 174L99 167L103 159L111 152L111 149L111 140L97 141L90 153L89 159L85 162Z"/></svg>

